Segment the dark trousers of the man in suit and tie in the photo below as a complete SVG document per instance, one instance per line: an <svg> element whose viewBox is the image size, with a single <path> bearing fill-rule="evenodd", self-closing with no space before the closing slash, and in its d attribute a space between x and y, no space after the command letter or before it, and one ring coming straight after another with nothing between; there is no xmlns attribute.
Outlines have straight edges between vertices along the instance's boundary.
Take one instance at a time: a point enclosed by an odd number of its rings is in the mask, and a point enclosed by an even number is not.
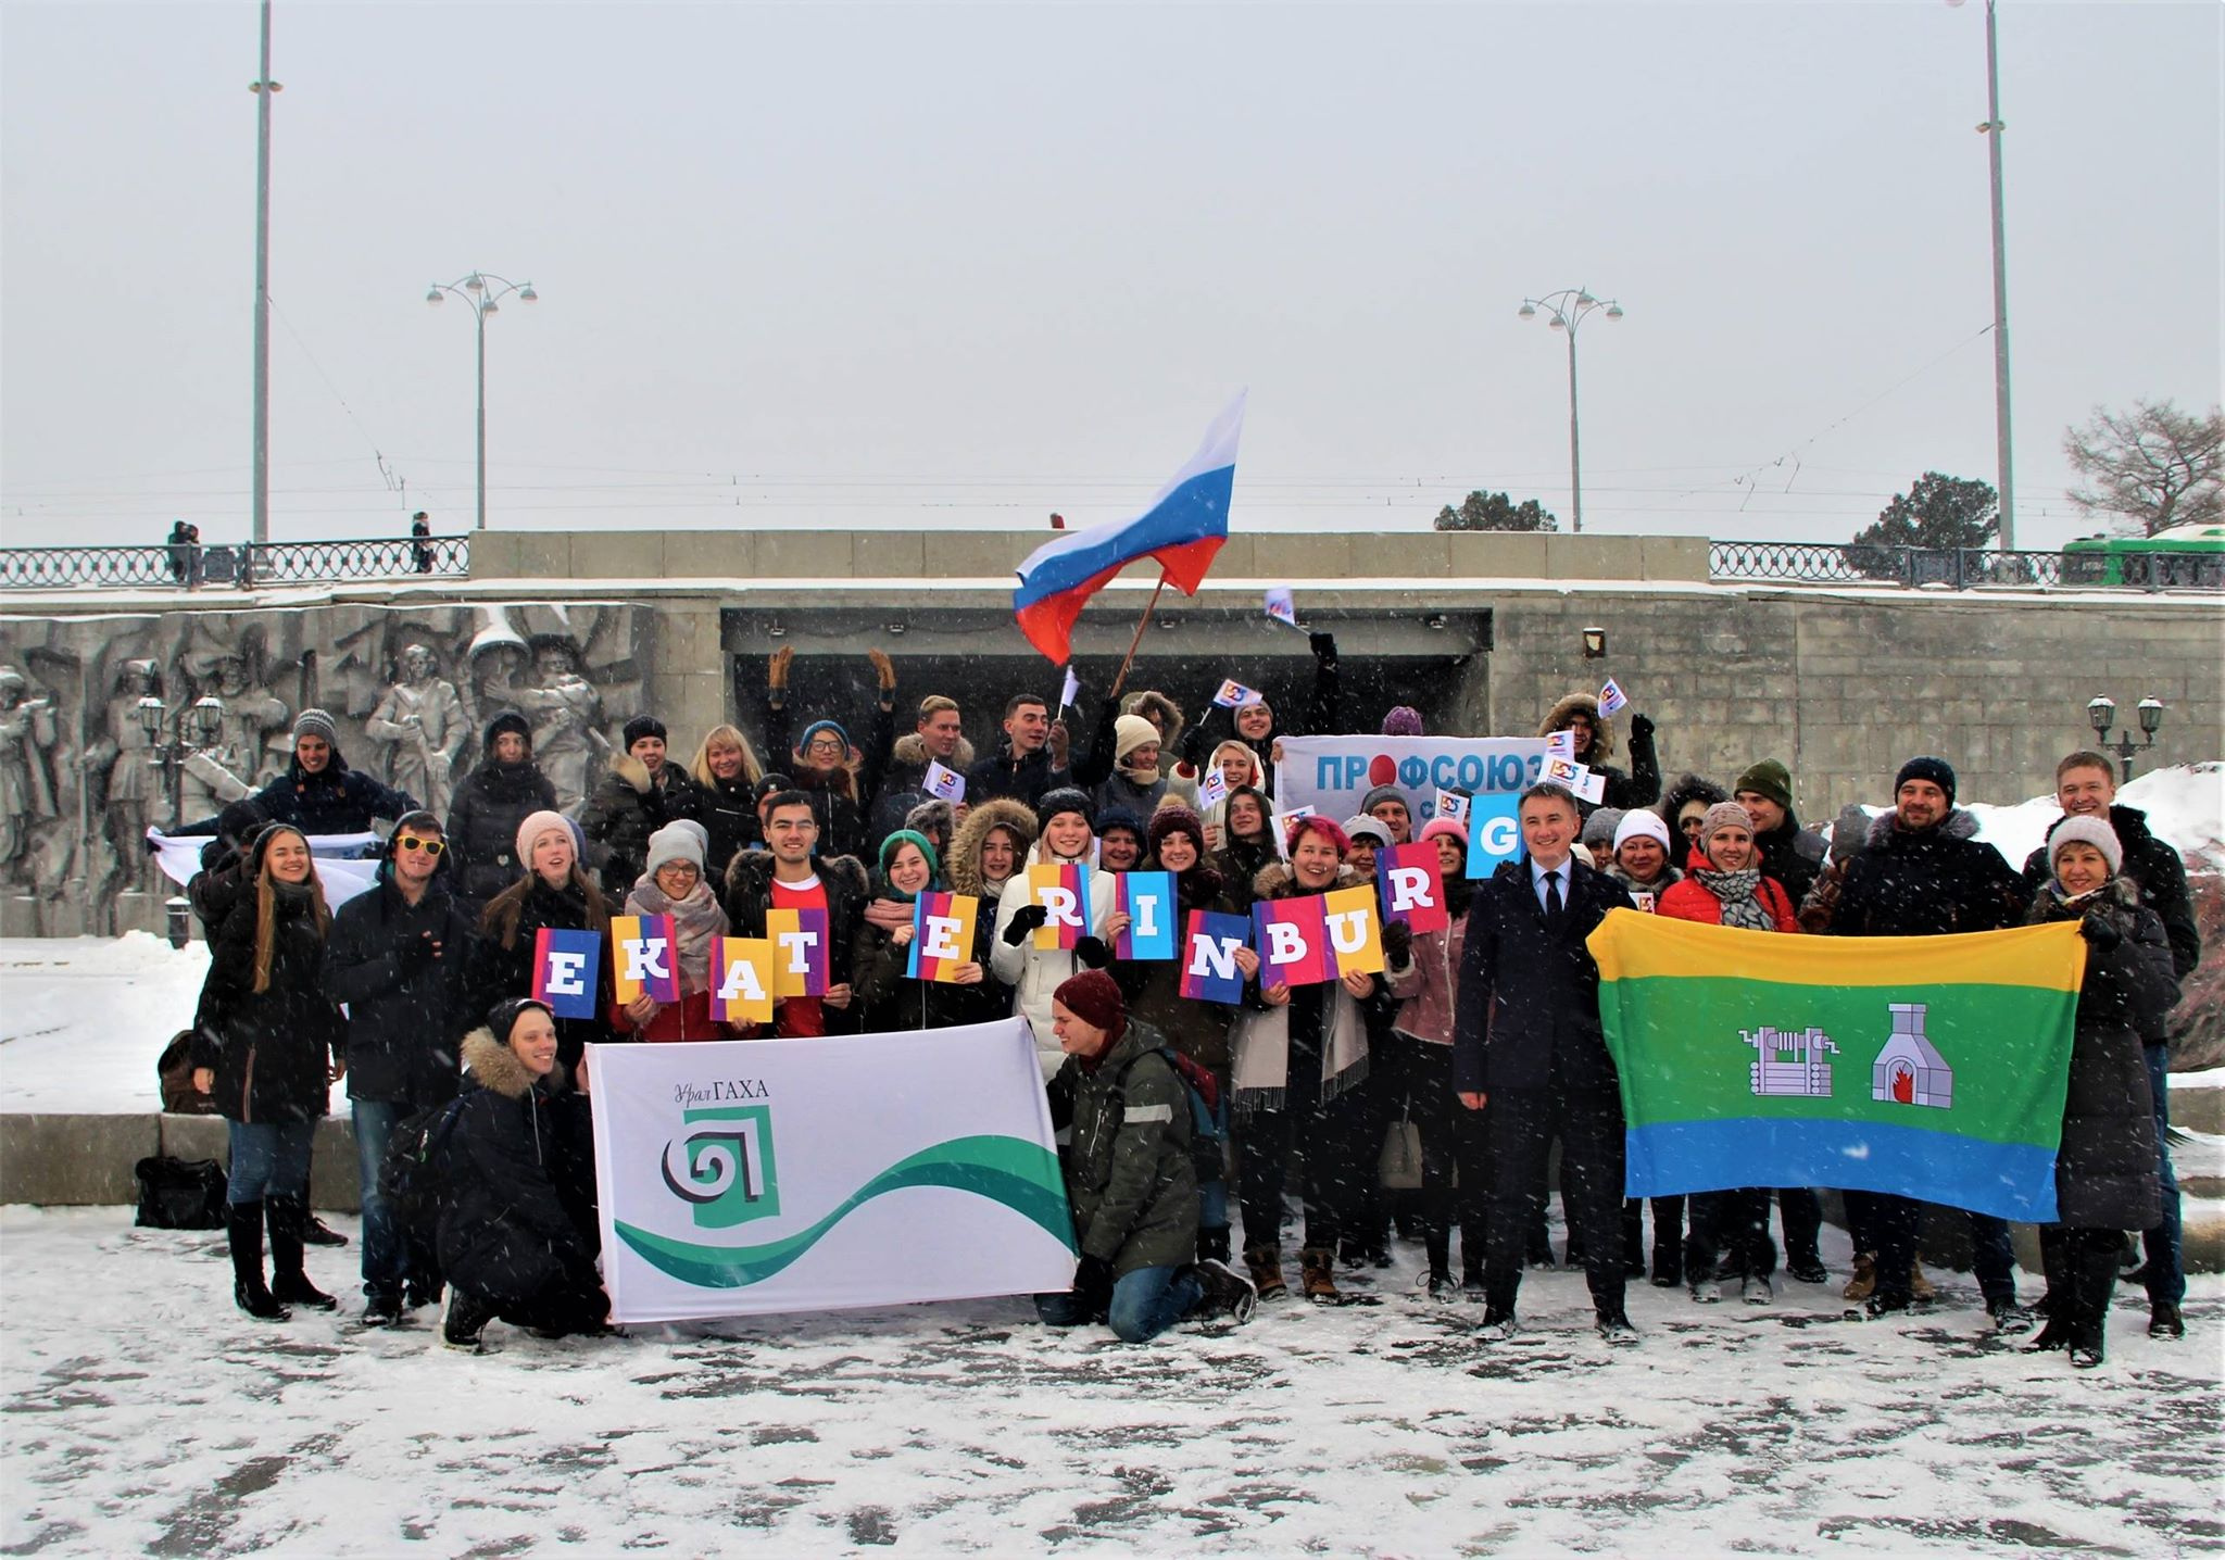
<svg viewBox="0 0 2225 1560"><path fill-rule="evenodd" d="M1611 1088L1493 1088L1491 1246L1484 1304L1511 1315L1531 1224L1544 1217L1546 1155L1560 1133L1560 1206L1584 1246L1600 1315L1622 1315L1622 1097Z"/></svg>

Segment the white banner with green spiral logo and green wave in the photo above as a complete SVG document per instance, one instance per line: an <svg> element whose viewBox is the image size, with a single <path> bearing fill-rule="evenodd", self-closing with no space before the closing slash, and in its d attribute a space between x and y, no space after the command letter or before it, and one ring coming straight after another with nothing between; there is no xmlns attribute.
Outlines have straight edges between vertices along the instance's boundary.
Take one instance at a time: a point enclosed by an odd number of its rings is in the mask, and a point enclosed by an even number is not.
<svg viewBox="0 0 2225 1560"><path fill-rule="evenodd" d="M616 1322L1035 1295L1075 1277L1021 1019L592 1046Z"/></svg>

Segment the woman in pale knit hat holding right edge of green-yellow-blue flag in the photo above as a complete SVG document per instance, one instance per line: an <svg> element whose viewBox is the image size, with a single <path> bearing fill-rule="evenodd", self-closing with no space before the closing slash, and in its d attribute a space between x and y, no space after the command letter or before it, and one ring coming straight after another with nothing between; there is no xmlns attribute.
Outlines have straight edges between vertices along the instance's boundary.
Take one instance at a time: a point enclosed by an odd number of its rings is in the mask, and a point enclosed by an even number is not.
<svg viewBox="0 0 2225 1560"><path fill-rule="evenodd" d="M2058 1222L2040 1226L2047 1326L2029 1349L2063 1349L2074 1366L2092 1369L2103 1362L2120 1231L2154 1228L2163 1217L2140 1035L2178 999L2178 981L2163 919L2120 877L2125 848L2105 817L2056 823L2047 866L2027 919L2078 921L2087 959L2056 1151Z"/></svg>

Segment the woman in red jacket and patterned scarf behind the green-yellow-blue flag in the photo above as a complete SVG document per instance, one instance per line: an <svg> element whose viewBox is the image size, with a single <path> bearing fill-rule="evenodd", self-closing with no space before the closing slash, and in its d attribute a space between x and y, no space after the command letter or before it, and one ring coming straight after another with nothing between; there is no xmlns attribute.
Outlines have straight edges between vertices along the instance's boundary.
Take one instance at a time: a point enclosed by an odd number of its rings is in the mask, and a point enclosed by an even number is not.
<svg viewBox="0 0 2225 1560"><path fill-rule="evenodd" d="M1800 930L1784 886L1762 877L1753 819L1736 801L1718 801L1700 819L1684 879L1662 892L1658 912L1749 932ZM1736 1277L1749 1304L1769 1304L1769 1275L1778 1268L1778 1248L1769 1240L1769 1191L1740 1186L1691 1199L1684 1282L1693 1300L1718 1300L1713 1282Z"/></svg>

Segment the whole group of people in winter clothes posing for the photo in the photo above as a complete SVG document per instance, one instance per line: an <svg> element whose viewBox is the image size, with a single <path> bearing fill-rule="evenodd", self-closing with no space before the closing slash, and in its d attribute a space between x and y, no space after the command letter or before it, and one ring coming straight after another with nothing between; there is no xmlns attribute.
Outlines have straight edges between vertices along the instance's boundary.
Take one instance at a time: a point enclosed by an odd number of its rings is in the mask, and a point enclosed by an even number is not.
<svg viewBox="0 0 2225 1560"><path fill-rule="evenodd" d="M1335 730L1335 643L1317 634L1306 725ZM1773 759L1729 788L1684 774L1667 792L1653 725L1629 721L1631 768L1589 694L1546 712L1604 774L1604 806L1560 786L1520 799L1522 855L1468 879L1464 826L1417 819L1382 786L1344 821L1279 823L1273 763L1284 725L1253 694L1226 737L1186 728L1159 692L1108 699L1086 743L1064 710L1015 697L977 757L963 712L921 699L897 739L897 670L870 652L877 701L863 746L837 714L790 710L790 652L768 668L765 752L712 728L685 766L641 714L578 808L554 810L530 728L498 717L447 819L347 770L332 721L296 723L291 772L218 819L196 879L214 950L196 1066L231 1119L231 1253L238 1304L258 1317L334 1302L303 1273L309 1128L345 1075L363 1166L365 1322L394 1324L452 1286L445 1335L474 1346L492 1317L552 1333L599 1331L592 1090L596 1041L810 1037L943 1028L1017 1015L1035 1037L1081 1268L1039 1297L1050 1324L1108 1320L1144 1340L1184 1315L1244 1317L1284 1295L1286 1193L1295 1193L1297 1286L1342 1297L1339 1268L1388 1266L1417 1235L1426 1289L1480 1300L1491 1337L1515 1331L1522 1275L1553 1264L1546 1166L1560 1146L1569 1248L1611 1342L1631 1342L1624 1286L1646 1275L1646 1211L1622 1195L1624 1117L1584 946L1613 908L1773 935L1907 937L2076 919L2087 939L2069 1104L2058 1155L2063 1224L2043 1231L2047 1326L2036 1346L2103 1355L2123 1231L2145 1235L2152 1333L2183 1333L2176 1184L2167 1124L2165 1013L2198 957L2185 872L2132 808L2107 757L2058 766L2063 819L2011 868L1974 839L1942 759L1893 777L1891 810L1858 808L1829 837L1800 826L1793 777ZM1386 734L1422 734L1395 708ZM1199 781L1217 772L1204 794ZM963 777L963 801L930 790ZM327 910L307 839L394 819L372 892ZM1190 910L1248 915L1262 899L1375 881L1375 852L1428 843L1446 930L1382 928L1382 975L1262 986L1239 950L1242 999L1184 999L1170 961L1115 959L1126 928L1108 872L1170 872ZM1028 866L1090 863L1086 935L1039 948ZM919 895L983 901L955 979L908 975ZM763 937L774 910L828 919L819 997L785 997L770 1026L712 1017L719 937ZM607 990L594 1017L532 1001L536 932L607 932L612 915L668 915L679 1001ZM607 961L605 961L607 966ZM461 1104L454 1104L458 1099ZM1213 1124L1226 1119L1226 1142ZM432 1126L427 1126L427 1117ZM1377 1175L1386 1135L1420 1139L1420 1188ZM380 1191L396 1135L445 1166L436 1217L407 1222ZM1293 1184L1293 1171L1295 1184ZM1873 1315L1922 1297L1922 1204L1847 1193L1856 1273ZM1713 1300L1771 1297L1778 1206L1793 1280L1824 1282L1816 1188L1658 1197L1651 1280ZM1967 1215L1994 1324L2027 1331L2007 1226ZM1242 1224L1242 1235L1233 1226ZM274 1273L263 1268L269 1231ZM1455 1235L1460 1268L1453 1268Z"/></svg>

